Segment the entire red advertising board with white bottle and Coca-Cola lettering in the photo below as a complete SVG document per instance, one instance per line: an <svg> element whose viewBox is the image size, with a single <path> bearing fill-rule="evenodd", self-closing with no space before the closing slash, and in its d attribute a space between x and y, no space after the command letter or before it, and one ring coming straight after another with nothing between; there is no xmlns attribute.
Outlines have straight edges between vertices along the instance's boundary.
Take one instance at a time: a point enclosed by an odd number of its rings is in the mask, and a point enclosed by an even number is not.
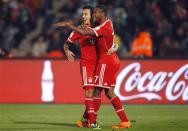
<svg viewBox="0 0 188 131"><path fill-rule="evenodd" d="M79 61L1 60L0 103L83 103L79 66ZM188 104L188 60L121 60L115 93L130 104Z"/></svg>

